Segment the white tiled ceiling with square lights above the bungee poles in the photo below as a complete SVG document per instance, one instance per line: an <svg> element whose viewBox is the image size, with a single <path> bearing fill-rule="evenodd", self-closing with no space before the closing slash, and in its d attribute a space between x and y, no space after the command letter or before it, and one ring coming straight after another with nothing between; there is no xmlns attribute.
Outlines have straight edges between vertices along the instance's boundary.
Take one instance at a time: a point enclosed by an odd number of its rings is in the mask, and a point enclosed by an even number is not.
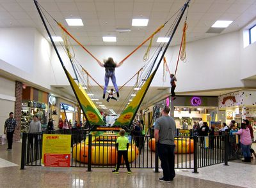
<svg viewBox="0 0 256 188"><path fill-rule="evenodd" d="M38 0L52 17L67 27L83 45L139 45L170 18L186 0ZM214 36L206 34L216 20L234 20L222 33L237 31L256 17L256 0L191 0L187 41ZM69 27L65 18L82 18L84 26ZM132 18L148 18L147 27L132 27ZM172 20L170 21L172 24ZM182 25L182 24L181 24ZM47 36L33 0L0 0L0 27L36 27ZM164 36L166 28L157 34ZM181 27L172 45L179 43ZM56 29L57 34L60 31ZM116 28L130 28L117 33ZM104 43L102 36L116 36L116 43ZM153 45L156 45L157 37Z"/></svg>

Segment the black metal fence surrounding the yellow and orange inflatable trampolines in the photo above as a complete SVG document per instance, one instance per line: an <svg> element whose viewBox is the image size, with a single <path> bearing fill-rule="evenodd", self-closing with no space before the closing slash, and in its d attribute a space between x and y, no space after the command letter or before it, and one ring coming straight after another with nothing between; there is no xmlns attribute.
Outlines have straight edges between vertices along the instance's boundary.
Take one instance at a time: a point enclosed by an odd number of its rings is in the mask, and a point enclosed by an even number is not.
<svg viewBox="0 0 256 188"><path fill-rule="evenodd" d="M117 136L92 136L86 130L73 130L71 167L114 168L117 161L115 140ZM22 160L24 166L41 166L42 134L22 134ZM51 131L47 134L63 134L63 131ZM150 136L129 136L128 159L131 168L154 168L158 171L160 161L156 143ZM228 160L242 157L239 144L234 136L176 136L175 168L193 169L214 164L228 163ZM124 162L124 161L122 161ZM125 168L125 165L121 165Z"/></svg>

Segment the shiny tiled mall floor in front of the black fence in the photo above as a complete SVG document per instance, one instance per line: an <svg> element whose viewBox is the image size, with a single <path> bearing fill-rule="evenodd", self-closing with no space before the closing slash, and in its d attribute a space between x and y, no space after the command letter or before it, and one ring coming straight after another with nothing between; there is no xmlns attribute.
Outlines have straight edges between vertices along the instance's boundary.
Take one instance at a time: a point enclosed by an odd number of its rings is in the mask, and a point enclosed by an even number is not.
<svg viewBox="0 0 256 188"><path fill-rule="evenodd" d="M253 144L253 148L256 144ZM170 184L159 182L162 172L152 169L132 169L129 175L121 169L118 175L112 169L92 168L46 168L26 166L20 170L21 143L13 143L12 152L6 145L0 146L0 187L256 187L256 159L244 164L232 161L228 166L217 164L192 170L176 170L176 177Z"/></svg>

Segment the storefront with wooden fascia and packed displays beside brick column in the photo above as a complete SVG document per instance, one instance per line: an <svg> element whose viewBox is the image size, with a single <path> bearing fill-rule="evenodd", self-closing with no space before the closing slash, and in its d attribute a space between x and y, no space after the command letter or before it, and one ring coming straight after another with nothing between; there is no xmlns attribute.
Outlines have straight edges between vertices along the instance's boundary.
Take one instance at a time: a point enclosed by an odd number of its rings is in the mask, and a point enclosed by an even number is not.
<svg viewBox="0 0 256 188"><path fill-rule="evenodd" d="M42 130L48 122L48 93L33 87L24 87L22 90L21 132L28 132L29 123L34 115L38 116Z"/></svg>

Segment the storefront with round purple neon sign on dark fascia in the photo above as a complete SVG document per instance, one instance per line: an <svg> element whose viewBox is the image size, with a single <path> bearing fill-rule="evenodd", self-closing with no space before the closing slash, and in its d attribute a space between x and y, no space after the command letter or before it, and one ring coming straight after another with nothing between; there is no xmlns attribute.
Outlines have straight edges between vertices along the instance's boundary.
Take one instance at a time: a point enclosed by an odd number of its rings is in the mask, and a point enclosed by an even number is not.
<svg viewBox="0 0 256 188"><path fill-rule="evenodd" d="M218 97L211 96L179 96L173 102L170 98L162 99L154 106L147 108L145 120L154 122L161 115L164 105L171 107L171 103L173 108L170 114L173 113L177 128L181 128L186 121L188 129L191 129L193 122L198 122L200 118L208 123L218 120Z"/></svg>

